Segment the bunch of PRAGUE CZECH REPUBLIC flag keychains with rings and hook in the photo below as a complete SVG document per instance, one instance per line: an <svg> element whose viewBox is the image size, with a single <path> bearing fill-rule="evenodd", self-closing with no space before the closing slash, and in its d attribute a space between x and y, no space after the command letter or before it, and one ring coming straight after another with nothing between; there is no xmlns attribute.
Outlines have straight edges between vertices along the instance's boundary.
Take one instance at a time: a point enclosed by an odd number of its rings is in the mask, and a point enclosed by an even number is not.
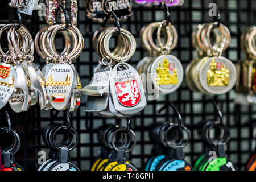
<svg viewBox="0 0 256 182"><path fill-rule="evenodd" d="M60 5L65 15L65 24L53 25L44 32L42 37L42 48L47 56L53 57L55 64L49 67L46 71L46 90L49 98L49 103L56 110L65 110L73 112L78 109L81 99L81 82L71 64L71 61L76 59L84 47L84 39L81 32L68 24L67 11ZM54 47L54 39L57 31L65 30L67 35L73 40L72 49L69 52L64 52L59 55ZM49 38L49 40L47 40Z"/></svg>

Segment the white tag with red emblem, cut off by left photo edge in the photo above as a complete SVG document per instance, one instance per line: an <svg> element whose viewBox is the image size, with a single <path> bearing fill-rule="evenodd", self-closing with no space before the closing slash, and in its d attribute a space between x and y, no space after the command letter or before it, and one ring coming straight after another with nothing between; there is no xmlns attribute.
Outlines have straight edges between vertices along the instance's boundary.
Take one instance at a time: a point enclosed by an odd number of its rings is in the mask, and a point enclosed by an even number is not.
<svg viewBox="0 0 256 182"><path fill-rule="evenodd" d="M0 63L0 109L6 105L15 89L15 68L6 63Z"/></svg>

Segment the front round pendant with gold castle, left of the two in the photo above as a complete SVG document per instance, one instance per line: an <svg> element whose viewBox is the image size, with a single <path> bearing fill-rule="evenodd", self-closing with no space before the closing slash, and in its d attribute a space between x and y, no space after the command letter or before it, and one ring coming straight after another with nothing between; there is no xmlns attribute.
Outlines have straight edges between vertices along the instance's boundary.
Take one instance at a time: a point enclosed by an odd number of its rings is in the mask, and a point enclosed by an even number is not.
<svg viewBox="0 0 256 182"><path fill-rule="evenodd" d="M183 80L183 67L173 55L162 55L151 66L151 79L156 90L162 94L174 92Z"/></svg>

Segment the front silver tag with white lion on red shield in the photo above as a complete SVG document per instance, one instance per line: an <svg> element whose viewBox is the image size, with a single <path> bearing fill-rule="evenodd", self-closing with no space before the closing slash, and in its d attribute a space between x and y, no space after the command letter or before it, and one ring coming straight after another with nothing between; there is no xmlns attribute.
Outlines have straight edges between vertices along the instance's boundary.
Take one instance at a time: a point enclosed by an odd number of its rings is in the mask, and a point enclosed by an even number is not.
<svg viewBox="0 0 256 182"><path fill-rule="evenodd" d="M147 105L141 77L127 63L118 63L113 68L110 93L115 109L121 114L137 114Z"/></svg>

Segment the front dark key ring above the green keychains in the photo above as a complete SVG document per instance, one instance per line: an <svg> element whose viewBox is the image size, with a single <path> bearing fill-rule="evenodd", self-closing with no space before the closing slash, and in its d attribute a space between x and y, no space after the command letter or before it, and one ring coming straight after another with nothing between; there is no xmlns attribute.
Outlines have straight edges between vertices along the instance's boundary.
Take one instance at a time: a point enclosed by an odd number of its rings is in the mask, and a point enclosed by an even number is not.
<svg viewBox="0 0 256 182"><path fill-rule="evenodd" d="M222 127L224 129L224 136L221 140L218 140L218 142L214 142L210 139L210 131L212 131L213 127ZM209 144L212 144L213 146L218 146L220 144L223 144L224 146L229 142L230 140L230 130L229 127L226 126L224 123L220 124L220 122L213 122L209 124L205 129L205 139Z"/></svg>

